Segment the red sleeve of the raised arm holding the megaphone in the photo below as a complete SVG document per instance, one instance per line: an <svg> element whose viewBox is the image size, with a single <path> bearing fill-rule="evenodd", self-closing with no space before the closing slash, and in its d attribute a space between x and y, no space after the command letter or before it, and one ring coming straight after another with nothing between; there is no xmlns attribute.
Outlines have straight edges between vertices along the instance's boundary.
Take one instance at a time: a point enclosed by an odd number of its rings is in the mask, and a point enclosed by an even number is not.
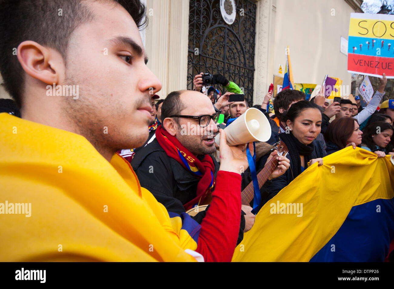
<svg viewBox="0 0 394 289"><path fill-rule="evenodd" d="M241 175L218 171L212 202L201 223L197 252L207 262L230 262L241 223Z"/></svg>

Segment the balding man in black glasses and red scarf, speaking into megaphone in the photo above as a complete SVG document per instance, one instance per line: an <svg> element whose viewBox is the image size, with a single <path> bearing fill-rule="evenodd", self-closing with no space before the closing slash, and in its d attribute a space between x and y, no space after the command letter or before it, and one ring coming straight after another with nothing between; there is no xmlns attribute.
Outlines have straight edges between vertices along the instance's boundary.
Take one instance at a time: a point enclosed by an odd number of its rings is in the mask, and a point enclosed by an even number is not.
<svg viewBox="0 0 394 289"><path fill-rule="evenodd" d="M223 160L219 168L215 158L210 156L216 151L214 137L218 133L216 123L219 114L210 99L200 92L171 92L162 104L162 125L156 130L156 139L134 156L131 164L141 186L149 189L169 212L181 214L196 204L209 203L209 194L214 191L215 183L228 182L220 175ZM271 177L278 177L283 169L276 169ZM241 192L240 180L228 184L239 186ZM234 217L227 221L238 222L240 241L243 231L249 230L254 223L251 207L243 205L241 213L241 205L232 203L228 197L223 198L223 204L229 208L238 206L238 219ZM213 203L208 212L224 214ZM208 212L199 212L193 217L202 228L202 220Z"/></svg>

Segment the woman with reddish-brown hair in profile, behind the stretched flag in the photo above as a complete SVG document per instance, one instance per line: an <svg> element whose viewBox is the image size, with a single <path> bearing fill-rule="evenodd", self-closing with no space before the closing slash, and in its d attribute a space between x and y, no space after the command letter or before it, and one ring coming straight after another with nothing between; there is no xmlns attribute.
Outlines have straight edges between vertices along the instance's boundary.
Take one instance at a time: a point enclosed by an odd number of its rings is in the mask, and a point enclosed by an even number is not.
<svg viewBox="0 0 394 289"><path fill-rule="evenodd" d="M335 153L340 149L361 144L362 131L359 123L354 118L336 118L327 127L324 138L327 145L327 155Z"/></svg>

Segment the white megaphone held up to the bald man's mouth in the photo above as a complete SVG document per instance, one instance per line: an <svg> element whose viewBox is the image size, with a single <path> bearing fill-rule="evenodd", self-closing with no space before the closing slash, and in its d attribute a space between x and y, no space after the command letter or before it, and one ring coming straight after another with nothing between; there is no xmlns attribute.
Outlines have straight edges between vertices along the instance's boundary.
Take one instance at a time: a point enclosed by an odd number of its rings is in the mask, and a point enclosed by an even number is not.
<svg viewBox="0 0 394 289"><path fill-rule="evenodd" d="M240 145L249 142L266 142L271 137L271 126L266 116L251 107L224 129L227 145ZM215 137L220 143L220 134Z"/></svg>

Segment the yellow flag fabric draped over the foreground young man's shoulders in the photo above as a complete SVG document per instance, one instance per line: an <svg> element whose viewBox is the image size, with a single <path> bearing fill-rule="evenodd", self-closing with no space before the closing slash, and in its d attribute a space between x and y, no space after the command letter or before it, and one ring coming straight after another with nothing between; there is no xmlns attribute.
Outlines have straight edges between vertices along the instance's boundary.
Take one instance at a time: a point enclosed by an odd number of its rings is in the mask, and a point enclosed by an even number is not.
<svg viewBox="0 0 394 289"><path fill-rule="evenodd" d="M180 217L119 155L110 164L78 134L6 113L0 124L0 261L195 261Z"/></svg>

